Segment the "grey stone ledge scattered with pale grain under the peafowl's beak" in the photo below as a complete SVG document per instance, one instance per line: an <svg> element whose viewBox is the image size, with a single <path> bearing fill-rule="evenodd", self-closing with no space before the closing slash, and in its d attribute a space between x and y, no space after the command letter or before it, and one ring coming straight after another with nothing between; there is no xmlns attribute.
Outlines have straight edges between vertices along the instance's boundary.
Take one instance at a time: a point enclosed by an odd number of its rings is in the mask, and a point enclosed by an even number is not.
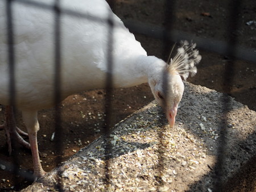
<svg viewBox="0 0 256 192"><path fill-rule="evenodd" d="M185 82L174 128L151 102L22 191L212 191L253 162L255 130L255 111Z"/></svg>

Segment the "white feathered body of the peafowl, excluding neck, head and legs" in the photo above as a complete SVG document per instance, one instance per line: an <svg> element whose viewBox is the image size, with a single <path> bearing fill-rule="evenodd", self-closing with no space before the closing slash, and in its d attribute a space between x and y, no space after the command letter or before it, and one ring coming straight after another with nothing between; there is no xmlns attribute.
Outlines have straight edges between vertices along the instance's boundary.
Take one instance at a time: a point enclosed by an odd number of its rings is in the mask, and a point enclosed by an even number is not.
<svg viewBox="0 0 256 192"><path fill-rule="evenodd" d="M105 1L60 2L63 8L90 16L89 19L67 14L60 16L61 99L78 91L105 86L110 53L108 48L113 49L114 87L147 82L146 67L150 65L148 61L153 63L154 60L147 59L141 44L112 13ZM1 32L7 32L5 9L1 7ZM17 106L21 109L51 107L55 90L54 12L14 3L13 14ZM111 34L113 46L109 46L110 28L106 23L109 15L115 25ZM98 19L99 16L101 19ZM0 101L6 105L9 101L7 35L1 35L0 42ZM137 68L131 67L136 63L145 65L141 65L141 69L139 65Z"/></svg>

